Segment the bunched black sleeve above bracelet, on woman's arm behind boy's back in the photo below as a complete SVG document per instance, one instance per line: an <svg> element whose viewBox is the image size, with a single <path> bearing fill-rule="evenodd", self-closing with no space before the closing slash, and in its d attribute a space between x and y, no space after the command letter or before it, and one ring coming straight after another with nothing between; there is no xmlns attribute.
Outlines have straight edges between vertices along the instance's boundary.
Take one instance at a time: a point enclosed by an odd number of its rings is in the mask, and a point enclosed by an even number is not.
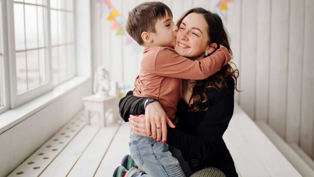
<svg viewBox="0 0 314 177"><path fill-rule="evenodd" d="M135 97L133 91L128 91L127 95L121 98L119 102L120 116L125 122L128 122L130 114L141 115L145 113L144 102L148 97Z"/></svg>

